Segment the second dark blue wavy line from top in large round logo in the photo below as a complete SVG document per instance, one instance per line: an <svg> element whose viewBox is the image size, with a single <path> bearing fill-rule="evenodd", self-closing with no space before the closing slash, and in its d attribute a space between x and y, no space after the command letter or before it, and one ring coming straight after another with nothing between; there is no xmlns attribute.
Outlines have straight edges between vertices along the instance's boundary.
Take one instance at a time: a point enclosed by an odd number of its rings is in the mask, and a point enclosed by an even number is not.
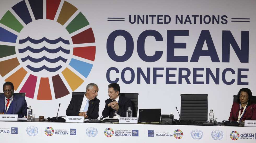
<svg viewBox="0 0 256 143"><path fill-rule="evenodd" d="M26 48L24 48L24 49L19 49L19 53L24 53L24 52L26 52L27 50L29 50L30 52L32 52L32 53L40 53L40 52L42 52L42 51L46 51L46 52L49 52L49 53L57 53L57 52L59 52L59 51L62 51L63 53L66 53L66 54L69 54L70 53L70 50L66 50L66 49L64 49L64 48L62 48L61 46L60 47L58 47L58 48L56 48L56 49L48 49L48 48L46 48L45 46L43 46L42 48L40 48L40 49L33 49L33 48L31 48L30 46L27 46Z"/></svg>

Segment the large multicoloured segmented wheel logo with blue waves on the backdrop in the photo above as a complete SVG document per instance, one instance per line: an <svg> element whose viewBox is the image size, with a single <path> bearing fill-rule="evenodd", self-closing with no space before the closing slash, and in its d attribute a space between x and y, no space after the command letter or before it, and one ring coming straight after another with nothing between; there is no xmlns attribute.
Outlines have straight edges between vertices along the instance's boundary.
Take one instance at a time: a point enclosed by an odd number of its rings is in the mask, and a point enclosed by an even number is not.
<svg viewBox="0 0 256 143"><path fill-rule="evenodd" d="M94 33L85 16L66 1L23 0L3 15L0 33L0 74L26 97L66 96L92 69Z"/></svg>

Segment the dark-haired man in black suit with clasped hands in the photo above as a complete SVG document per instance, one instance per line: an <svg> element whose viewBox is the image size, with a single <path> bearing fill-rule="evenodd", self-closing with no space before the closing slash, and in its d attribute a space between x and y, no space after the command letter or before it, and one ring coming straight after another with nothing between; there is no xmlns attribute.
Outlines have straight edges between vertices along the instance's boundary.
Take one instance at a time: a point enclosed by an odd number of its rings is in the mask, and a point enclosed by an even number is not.
<svg viewBox="0 0 256 143"><path fill-rule="evenodd" d="M103 117L109 118L119 118L126 117L126 111L128 107L131 107L132 103L129 98L119 96L120 86L117 83L112 83L108 85L108 96L105 108L102 112Z"/></svg>

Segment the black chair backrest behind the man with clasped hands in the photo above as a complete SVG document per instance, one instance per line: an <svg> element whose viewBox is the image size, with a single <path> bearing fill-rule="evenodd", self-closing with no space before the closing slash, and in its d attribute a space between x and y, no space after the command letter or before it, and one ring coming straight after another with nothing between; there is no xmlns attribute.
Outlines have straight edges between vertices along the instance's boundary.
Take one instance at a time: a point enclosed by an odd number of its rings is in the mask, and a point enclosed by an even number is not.
<svg viewBox="0 0 256 143"><path fill-rule="evenodd" d="M130 98L132 102L132 117L137 117L138 113L138 95L139 93L119 93L120 96Z"/></svg>

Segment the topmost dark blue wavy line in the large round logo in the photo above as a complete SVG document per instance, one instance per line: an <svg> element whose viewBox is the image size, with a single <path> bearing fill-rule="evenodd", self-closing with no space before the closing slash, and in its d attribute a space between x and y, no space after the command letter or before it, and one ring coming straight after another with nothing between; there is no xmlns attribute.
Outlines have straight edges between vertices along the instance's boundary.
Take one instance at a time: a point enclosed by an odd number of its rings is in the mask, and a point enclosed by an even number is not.
<svg viewBox="0 0 256 143"><path fill-rule="evenodd" d="M19 40L19 44L23 44L23 43L25 43L25 42L27 42L27 41L29 41L29 42L31 42L31 43L33 43L33 44L42 43L42 42L44 42L44 41L47 42L47 43L50 43L50 44L57 44L57 43L59 43L59 42L61 41L62 43L69 45L69 40L62 39L61 37L58 38L58 39L55 39L55 40L50 40L50 39L47 39L47 38L45 38L45 37L42 38L42 39L36 40L36 39L32 39L32 38L30 38L30 37L27 37L27 38L25 38L25 39L20 39L20 40Z"/></svg>

